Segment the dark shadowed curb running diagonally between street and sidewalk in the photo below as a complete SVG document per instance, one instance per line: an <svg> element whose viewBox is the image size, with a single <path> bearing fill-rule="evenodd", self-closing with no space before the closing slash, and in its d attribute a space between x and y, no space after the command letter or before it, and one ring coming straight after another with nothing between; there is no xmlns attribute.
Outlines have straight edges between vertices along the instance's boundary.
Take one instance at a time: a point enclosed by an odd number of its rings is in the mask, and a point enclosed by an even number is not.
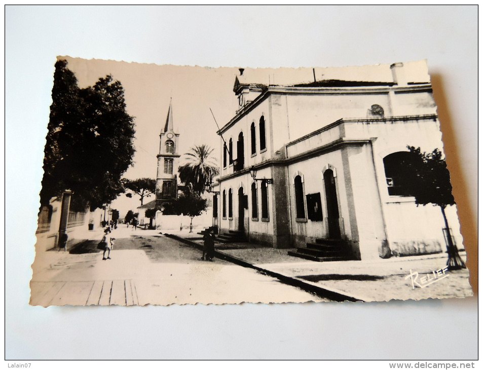
<svg viewBox="0 0 483 370"><path fill-rule="evenodd" d="M178 241L180 241L184 244L194 246L195 248L197 248L199 250L203 250L203 245L200 244L200 243L197 243L195 241L184 239L184 238L181 238L181 237L179 237L177 235L173 235L173 234L163 234L163 235L168 237L168 238L178 240ZM276 273L276 272L273 272L273 271L270 271L270 270L262 269L261 267L256 267L256 266L254 266L254 265L252 265L252 264L250 264L246 261L239 260L238 258L235 258L235 257L233 257L229 254L226 254L226 253L223 253L223 252L220 252L220 251L217 251L217 250L215 250L215 257L219 258L220 260L225 260L225 261L234 263L234 264L242 266L242 267L254 269L254 270L256 270L256 271L258 271L258 272L260 272L264 275L268 275L268 276L271 276L273 278L276 278L276 279L280 280L281 282L283 282L285 284L296 286L296 287L299 287L299 288L301 288L301 289L303 289L303 290L305 290L309 293L316 294L321 298L328 298L332 301L338 301L338 302L343 302L343 301L365 302L365 301L367 301L367 299L362 299L362 298L356 297L355 295L349 295L346 292L343 292L343 291L340 291L340 290L329 289L327 287L313 285L310 282L299 279L299 278L285 276L285 275L282 275L282 274L279 274L279 273Z"/></svg>

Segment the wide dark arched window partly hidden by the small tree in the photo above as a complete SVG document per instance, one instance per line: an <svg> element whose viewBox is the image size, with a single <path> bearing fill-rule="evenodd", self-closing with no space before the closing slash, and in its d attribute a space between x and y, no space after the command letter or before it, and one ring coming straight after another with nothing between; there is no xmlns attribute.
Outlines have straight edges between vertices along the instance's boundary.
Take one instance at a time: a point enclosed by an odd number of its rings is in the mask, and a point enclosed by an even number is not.
<svg viewBox="0 0 483 370"><path fill-rule="evenodd" d="M414 166L417 165L418 159L411 152L396 152L383 159L389 195L405 197L413 195L412 189L416 176Z"/></svg>

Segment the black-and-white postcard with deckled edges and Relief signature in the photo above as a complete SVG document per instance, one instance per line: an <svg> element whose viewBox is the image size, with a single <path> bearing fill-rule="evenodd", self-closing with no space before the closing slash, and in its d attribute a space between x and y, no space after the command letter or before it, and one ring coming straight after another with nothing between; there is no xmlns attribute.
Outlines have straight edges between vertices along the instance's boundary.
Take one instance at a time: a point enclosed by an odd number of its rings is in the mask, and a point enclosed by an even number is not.
<svg viewBox="0 0 483 370"><path fill-rule="evenodd" d="M58 57L30 304L472 295L426 61Z"/></svg>

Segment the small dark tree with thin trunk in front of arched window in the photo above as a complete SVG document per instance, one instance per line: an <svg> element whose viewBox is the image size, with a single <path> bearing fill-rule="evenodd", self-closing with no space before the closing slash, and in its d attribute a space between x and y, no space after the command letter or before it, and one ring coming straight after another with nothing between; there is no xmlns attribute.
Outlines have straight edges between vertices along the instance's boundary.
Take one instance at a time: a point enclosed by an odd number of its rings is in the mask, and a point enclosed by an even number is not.
<svg viewBox="0 0 483 370"><path fill-rule="evenodd" d="M421 152L421 148L408 146L407 149L417 158L406 164L408 176L413 178L411 193L416 199L416 204L433 204L439 206L444 219L445 233L448 241L448 269L458 270L465 268L465 264L458 254L458 248L450 235L450 226L445 208L455 204L450 182L450 171L446 166L440 150L435 149L431 153Z"/></svg>

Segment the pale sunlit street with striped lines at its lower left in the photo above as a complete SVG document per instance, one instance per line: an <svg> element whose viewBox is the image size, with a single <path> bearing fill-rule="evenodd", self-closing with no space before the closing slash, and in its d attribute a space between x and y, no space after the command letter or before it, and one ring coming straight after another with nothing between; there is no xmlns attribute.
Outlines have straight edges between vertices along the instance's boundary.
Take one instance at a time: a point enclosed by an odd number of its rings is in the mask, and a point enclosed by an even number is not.
<svg viewBox="0 0 483 370"><path fill-rule="evenodd" d="M69 252L35 259L31 305L169 305L328 301L277 279L215 258L156 231L121 225L111 260L92 237ZM196 234L195 234L196 235ZM97 236L97 235L96 235Z"/></svg>

